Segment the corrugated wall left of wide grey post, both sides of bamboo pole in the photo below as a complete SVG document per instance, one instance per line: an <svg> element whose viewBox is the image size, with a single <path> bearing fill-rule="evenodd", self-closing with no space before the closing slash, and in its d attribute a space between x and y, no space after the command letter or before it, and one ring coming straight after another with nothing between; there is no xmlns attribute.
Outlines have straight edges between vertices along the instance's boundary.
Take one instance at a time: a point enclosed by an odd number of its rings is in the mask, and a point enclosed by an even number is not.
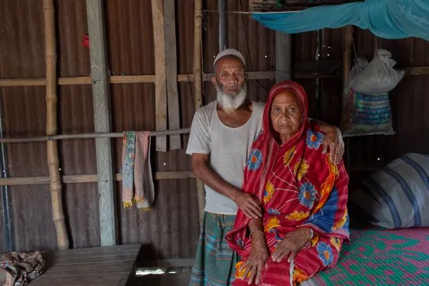
<svg viewBox="0 0 429 286"><path fill-rule="evenodd" d="M43 1L3 1L0 9L0 37L4 39L0 42L0 77L44 78ZM81 44L82 36L88 33L85 1L56 1L55 14L57 75L89 75L89 50ZM93 132L91 86L61 86L57 92L59 133ZM1 96L5 136L46 134L44 87L3 87ZM59 148L63 175L96 173L93 140L60 141ZM48 175L46 143L9 144L7 149L10 177ZM16 248L54 249L56 236L49 186L12 186L10 189ZM96 184L64 184L63 190L71 247L99 245Z"/></svg>

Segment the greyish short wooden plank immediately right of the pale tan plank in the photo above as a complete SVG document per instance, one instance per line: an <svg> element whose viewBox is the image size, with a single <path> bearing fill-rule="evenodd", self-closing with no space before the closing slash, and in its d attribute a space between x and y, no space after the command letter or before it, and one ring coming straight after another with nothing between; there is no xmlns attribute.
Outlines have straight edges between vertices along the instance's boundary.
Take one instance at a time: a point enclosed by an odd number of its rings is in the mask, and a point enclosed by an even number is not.
<svg viewBox="0 0 429 286"><path fill-rule="evenodd" d="M180 128L179 92L177 91L176 17L174 0L164 0L165 72L167 75L168 128ZM170 135L170 150L182 148L180 135Z"/></svg>

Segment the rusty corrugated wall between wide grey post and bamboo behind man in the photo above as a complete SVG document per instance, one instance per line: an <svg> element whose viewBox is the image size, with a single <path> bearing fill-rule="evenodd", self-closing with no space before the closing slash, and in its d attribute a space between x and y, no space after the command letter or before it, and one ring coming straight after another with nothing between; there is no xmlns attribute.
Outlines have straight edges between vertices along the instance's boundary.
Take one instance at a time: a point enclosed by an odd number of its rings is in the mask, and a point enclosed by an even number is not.
<svg viewBox="0 0 429 286"><path fill-rule="evenodd" d="M192 73L193 3L178 6L178 66L180 73ZM109 66L115 75L154 74L154 41L150 1L108 1L107 26ZM153 83L112 84L113 131L155 129L155 86ZM189 83L179 84L181 125L189 127L194 104ZM183 136L184 146L188 135ZM122 141L115 141L116 171L119 172ZM156 172L188 171L185 150L155 152ZM117 184L118 190L121 184ZM156 181L152 211L120 208L121 242L147 244L149 256L191 257L197 243L199 222L196 186L193 179ZM119 204L119 202L118 202Z"/></svg>

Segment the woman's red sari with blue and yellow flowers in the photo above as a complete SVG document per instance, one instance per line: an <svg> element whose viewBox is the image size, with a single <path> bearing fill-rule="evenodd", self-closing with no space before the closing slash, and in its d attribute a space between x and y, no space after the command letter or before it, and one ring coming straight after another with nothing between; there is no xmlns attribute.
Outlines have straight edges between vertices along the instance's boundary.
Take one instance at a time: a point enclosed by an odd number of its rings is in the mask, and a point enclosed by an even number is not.
<svg viewBox="0 0 429 286"><path fill-rule="evenodd" d="M292 91L302 110L303 123L289 141L277 144L270 128L270 107L277 94ZM286 233L299 227L313 230L313 238L294 260L266 260L259 285L295 285L318 271L336 265L343 240L349 238L347 184L343 161L336 166L329 154L322 154L324 134L308 119L307 94L295 82L280 82L271 89L264 109L263 129L255 139L244 170L242 189L255 195L264 206L263 226L266 243L273 253ZM248 222L238 211L234 228L227 235L230 247L239 253L236 278L249 256L251 241ZM247 285L236 279L234 285Z"/></svg>

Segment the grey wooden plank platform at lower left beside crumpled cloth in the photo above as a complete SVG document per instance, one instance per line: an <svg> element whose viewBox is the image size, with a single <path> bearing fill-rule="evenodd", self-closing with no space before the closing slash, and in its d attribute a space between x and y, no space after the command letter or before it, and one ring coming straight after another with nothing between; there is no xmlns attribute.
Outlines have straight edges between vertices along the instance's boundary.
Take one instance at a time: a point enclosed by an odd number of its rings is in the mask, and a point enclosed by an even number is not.
<svg viewBox="0 0 429 286"><path fill-rule="evenodd" d="M126 285L139 251L140 244L127 244L42 253L47 270L33 280L31 285Z"/></svg>

